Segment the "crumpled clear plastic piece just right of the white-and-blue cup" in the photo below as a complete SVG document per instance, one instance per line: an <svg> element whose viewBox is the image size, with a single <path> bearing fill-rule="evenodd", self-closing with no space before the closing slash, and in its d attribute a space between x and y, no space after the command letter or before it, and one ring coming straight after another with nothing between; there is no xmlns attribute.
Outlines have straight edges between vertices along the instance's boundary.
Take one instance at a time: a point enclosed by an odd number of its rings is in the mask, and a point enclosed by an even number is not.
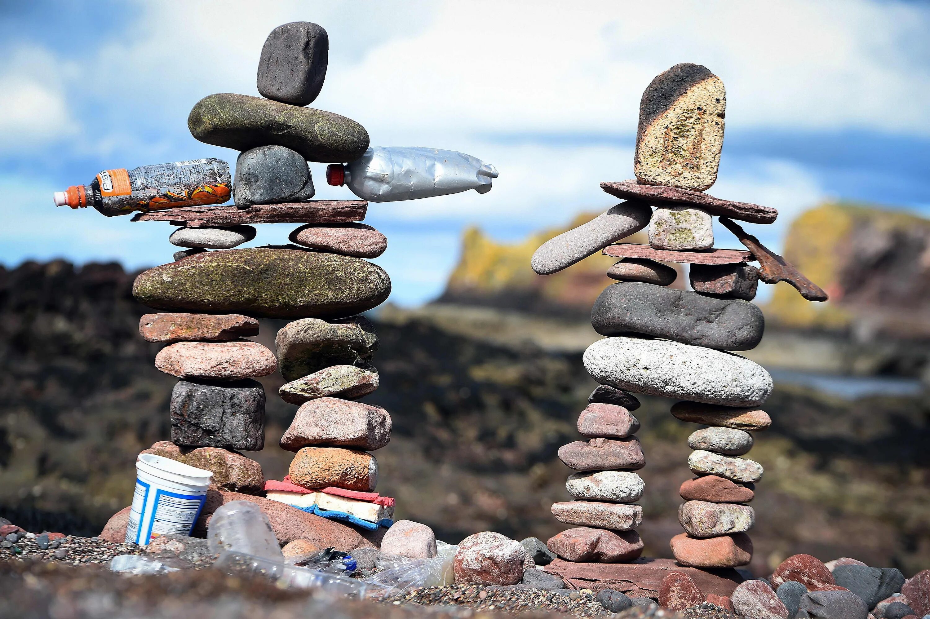
<svg viewBox="0 0 930 619"><path fill-rule="evenodd" d="M230 501L219 507L206 528L210 552L231 551L284 563L285 556L272 533L272 524L249 501Z"/></svg>

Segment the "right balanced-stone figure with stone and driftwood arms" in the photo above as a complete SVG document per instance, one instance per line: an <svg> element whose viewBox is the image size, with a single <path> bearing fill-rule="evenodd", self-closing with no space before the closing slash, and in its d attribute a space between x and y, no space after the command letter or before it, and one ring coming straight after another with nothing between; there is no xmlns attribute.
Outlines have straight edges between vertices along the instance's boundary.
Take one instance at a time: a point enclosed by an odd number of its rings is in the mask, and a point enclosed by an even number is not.
<svg viewBox="0 0 930 619"><path fill-rule="evenodd" d="M585 441L559 450L578 471L566 483L575 500L552 506L557 520L577 525L548 542L564 560L630 562L643 550L635 531L643 511L635 502L644 482L632 471L645 460L631 415L639 402L627 391L684 400L671 414L708 426L688 438L695 450L688 467L697 477L681 487L685 533L671 540L675 560L695 568L751 560L746 532L755 515L745 503L763 468L737 456L749 452L750 432L771 424L758 407L773 385L762 366L729 351L752 349L763 336L762 311L750 302L760 279L788 282L812 301L827 295L733 221L772 223L775 209L703 192L717 178L725 103L723 82L705 67L683 63L659 74L640 104L636 180L601 183L626 202L542 244L533 256L540 275L602 249L621 258L607 271L619 283L591 310L591 324L606 337L584 353L585 369L601 383L578 417ZM712 248L712 216L748 251ZM648 245L617 244L646 227ZM677 271L660 261L690 265L693 291L668 287Z"/></svg>

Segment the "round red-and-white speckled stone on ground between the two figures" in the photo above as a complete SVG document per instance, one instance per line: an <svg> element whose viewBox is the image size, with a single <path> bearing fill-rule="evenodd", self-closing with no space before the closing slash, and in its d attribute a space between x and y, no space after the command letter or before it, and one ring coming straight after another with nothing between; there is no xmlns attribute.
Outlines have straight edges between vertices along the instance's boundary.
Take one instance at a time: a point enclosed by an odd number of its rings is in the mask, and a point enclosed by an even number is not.
<svg viewBox="0 0 930 619"><path fill-rule="evenodd" d="M452 571L457 585L516 585L523 580L525 558L520 542L485 531L458 543Z"/></svg>

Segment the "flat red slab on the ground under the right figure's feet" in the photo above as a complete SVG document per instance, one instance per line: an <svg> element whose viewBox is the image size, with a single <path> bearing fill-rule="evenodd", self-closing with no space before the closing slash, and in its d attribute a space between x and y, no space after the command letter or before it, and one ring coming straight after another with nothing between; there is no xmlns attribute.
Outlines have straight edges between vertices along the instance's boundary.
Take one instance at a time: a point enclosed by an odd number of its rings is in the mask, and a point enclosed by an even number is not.
<svg viewBox="0 0 930 619"><path fill-rule="evenodd" d="M553 560L543 568L545 572L558 574L565 585L572 589L613 589L631 597L658 599L658 586L672 572L686 574L706 596L713 593L729 596L742 576L732 569L701 570L681 567L671 559L640 557L632 563L573 563L561 559ZM631 593L628 593L631 592Z"/></svg>

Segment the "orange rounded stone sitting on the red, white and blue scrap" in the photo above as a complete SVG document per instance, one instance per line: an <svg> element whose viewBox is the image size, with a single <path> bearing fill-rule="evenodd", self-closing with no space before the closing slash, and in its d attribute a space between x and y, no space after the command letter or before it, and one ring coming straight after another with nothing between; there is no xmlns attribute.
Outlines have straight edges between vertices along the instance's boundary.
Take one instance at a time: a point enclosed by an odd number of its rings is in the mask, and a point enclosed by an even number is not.
<svg viewBox="0 0 930 619"><path fill-rule="evenodd" d="M336 486L370 493L378 485L378 460L343 447L304 447L291 460L290 481L304 488Z"/></svg>

